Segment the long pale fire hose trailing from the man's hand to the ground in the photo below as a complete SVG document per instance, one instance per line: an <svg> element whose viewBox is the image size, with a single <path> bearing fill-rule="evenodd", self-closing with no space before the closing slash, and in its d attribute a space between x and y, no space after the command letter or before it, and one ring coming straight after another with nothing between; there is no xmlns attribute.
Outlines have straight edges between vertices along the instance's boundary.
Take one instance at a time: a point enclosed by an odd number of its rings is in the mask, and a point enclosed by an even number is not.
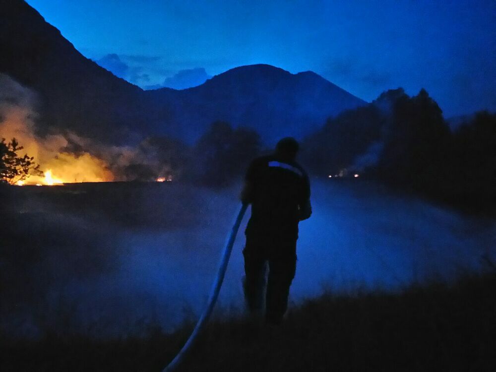
<svg viewBox="0 0 496 372"><path fill-rule="evenodd" d="M229 262L229 257L231 256L231 252L233 250L234 241L236 240L236 235L238 234L241 221L243 220L243 216L245 215L247 208L248 208L248 204L243 204L236 216L236 219L233 224L233 228L231 230L231 234L229 235L226 244L224 246L224 251L222 253L222 257L219 263L219 271L217 272L217 277L215 278L215 281L212 284L212 288L210 289L210 297L208 298L208 303L205 310L203 310L203 313L199 317L198 322L196 323L193 331L191 332L191 335L187 339L183 348L179 351L179 353L172 360L172 362L169 363L169 365L163 369L162 372L173 372L179 367L181 362L184 360L188 350L194 344L198 335L200 334L203 327L207 323L208 318L212 314L212 310L214 309L215 302L217 301L217 297L219 296L220 287L222 286L222 282L226 274L227 264Z"/></svg>

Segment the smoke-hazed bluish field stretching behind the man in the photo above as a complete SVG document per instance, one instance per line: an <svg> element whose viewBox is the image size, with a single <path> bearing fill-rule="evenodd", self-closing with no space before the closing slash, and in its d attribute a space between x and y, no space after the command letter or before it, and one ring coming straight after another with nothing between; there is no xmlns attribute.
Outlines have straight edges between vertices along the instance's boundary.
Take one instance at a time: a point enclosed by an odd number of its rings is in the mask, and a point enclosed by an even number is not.
<svg viewBox="0 0 496 372"><path fill-rule="evenodd" d="M202 310L241 185L2 187L1 333L109 338L172 331ZM400 292L496 261L494 220L360 179L313 180L291 307L324 292ZM243 230L217 307L244 304Z"/></svg>

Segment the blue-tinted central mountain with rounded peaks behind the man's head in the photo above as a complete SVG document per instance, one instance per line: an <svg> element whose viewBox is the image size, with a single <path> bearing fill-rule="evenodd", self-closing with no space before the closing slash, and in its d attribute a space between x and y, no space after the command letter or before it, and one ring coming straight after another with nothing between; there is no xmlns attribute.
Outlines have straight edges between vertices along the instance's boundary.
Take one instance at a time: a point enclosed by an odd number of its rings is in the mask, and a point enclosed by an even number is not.
<svg viewBox="0 0 496 372"><path fill-rule="evenodd" d="M145 95L155 107L171 108L182 137L197 137L222 120L254 128L268 142L285 135L302 138L329 116L365 104L314 72L291 74L267 64L236 67L197 87Z"/></svg>

